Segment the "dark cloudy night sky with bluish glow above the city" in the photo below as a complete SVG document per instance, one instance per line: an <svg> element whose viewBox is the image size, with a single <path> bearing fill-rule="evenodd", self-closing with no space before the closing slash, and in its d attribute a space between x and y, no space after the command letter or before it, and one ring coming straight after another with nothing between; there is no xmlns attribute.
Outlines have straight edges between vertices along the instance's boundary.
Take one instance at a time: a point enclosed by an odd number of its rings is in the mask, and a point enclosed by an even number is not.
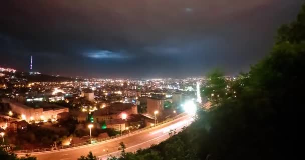
<svg viewBox="0 0 305 160"><path fill-rule="evenodd" d="M0 66L62 76L247 71L302 0L6 0Z"/></svg>

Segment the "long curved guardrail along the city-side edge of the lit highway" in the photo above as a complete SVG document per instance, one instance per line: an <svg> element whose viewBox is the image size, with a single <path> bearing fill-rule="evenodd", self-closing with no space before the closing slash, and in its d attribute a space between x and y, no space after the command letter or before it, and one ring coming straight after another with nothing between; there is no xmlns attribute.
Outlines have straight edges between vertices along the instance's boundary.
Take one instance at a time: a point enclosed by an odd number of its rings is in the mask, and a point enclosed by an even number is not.
<svg viewBox="0 0 305 160"><path fill-rule="evenodd" d="M101 143L101 142L104 142L104 141L107 141L107 140L123 137L123 136L129 135L129 134L134 134L134 133L146 130L146 129L150 129L150 128L162 125L164 123L173 121L173 120L178 119L180 117L183 117L184 115L186 115L186 114L181 113L181 114L179 114L179 115L177 115L173 118L170 118L170 119L167 119L167 120L162 121L160 123L157 123L155 126L147 126L147 127L132 131L130 133L129 132L124 133L123 135L116 135L116 136L111 136L111 137L107 137L107 138L103 138L103 139L94 140L94 142L92 142L92 143L91 143L91 141L88 141L88 142L84 142L84 143L71 144L71 145L66 145L66 146L57 146L56 148L53 147L53 148L42 148L42 149L32 149L32 150L14 150L13 152L15 154L39 153L39 152L45 152L45 151L57 151L57 150L62 150L62 149L74 148L74 147L79 147L79 146L84 146L84 145L89 145L89 144L98 144L98 143Z"/></svg>

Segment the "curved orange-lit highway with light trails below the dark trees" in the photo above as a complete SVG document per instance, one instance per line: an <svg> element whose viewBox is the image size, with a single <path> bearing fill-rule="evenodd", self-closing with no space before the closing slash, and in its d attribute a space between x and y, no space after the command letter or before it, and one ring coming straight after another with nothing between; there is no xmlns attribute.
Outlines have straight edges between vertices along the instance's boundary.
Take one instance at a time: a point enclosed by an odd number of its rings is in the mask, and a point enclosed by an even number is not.
<svg viewBox="0 0 305 160"><path fill-rule="evenodd" d="M92 151L95 156L104 160L107 159L107 149L108 156L120 155L120 151L118 150L120 142L123 142L126 145L126 152L134 152L140 148L147 148L153 144L159 144L170 137L169 131L171 129L176 129L176 132L179 132L183 126L189 125L192 120L193 119L190 115L185 115L171 122L102 143L63 150L33 153L30 155L36 156L38 160L75 160L82 155L86 156L89 151Z"/></svg>

